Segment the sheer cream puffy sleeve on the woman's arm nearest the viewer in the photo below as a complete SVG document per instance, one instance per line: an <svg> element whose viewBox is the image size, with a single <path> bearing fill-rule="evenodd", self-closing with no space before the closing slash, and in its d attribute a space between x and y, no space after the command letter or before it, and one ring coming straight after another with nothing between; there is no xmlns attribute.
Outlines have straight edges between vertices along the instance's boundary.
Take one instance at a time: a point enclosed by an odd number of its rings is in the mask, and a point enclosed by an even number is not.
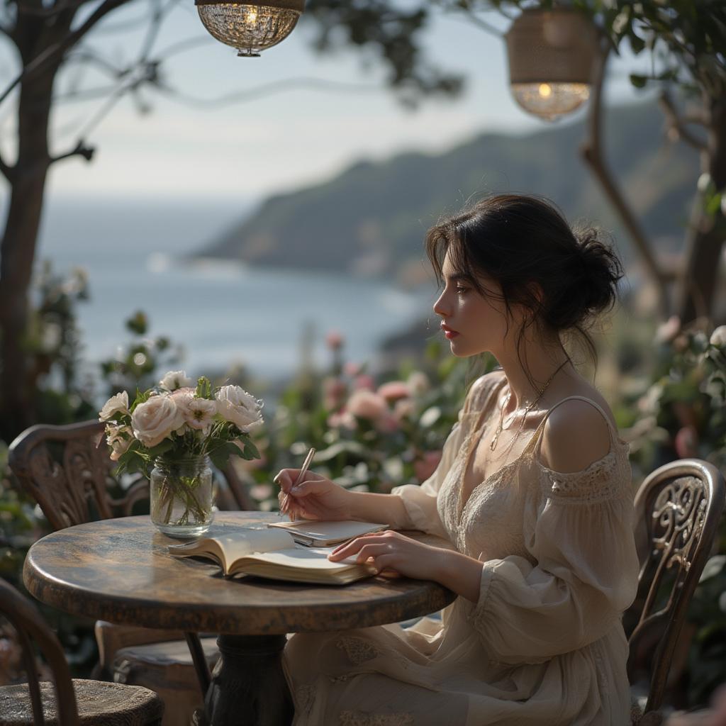
<svg viewBox="0 0 726 726"><path fill-rule="evenodd" d="M525 512L530 558L484 562L470 622L494 660L539 663L603 637L635 599L638 559L627 450L583 472L535 462L542 499Z"/></svg>

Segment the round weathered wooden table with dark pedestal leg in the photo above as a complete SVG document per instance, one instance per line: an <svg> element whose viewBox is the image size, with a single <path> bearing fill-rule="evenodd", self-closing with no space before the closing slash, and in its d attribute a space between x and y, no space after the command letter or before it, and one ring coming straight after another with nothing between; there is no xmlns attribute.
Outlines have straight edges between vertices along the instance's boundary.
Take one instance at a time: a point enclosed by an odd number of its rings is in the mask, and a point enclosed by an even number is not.
<svg viewBox="0 0 726 726"><path fill-rule="evenodd" d="M274 513L218 513L209 535L276 521ZM427 539L417 534L417 538ZM340 586L224 579L201 560L178 559L148 517L80 524L39 539L25 587L76 615L150 628L219 633L221 658L205 698L211 726L282 726L293 709L282 672L285 634L370 627L444 608L434 582L370 579Z"/></svg>

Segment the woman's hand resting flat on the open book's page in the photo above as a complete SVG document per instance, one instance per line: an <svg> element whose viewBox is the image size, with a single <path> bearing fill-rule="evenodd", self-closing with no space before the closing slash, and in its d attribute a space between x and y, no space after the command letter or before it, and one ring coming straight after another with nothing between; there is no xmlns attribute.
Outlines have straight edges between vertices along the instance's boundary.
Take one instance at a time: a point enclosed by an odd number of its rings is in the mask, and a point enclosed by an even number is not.
<svg viewBox="0 0 726 726"><path fill-rule="evenodd" d="M445 554L446 550L440 547L431 547L388 529L340 544L327 558L337 561L355 555L360 563L372 560L377 572L393 570L404 577L438 580L440 560Z"/></svg>

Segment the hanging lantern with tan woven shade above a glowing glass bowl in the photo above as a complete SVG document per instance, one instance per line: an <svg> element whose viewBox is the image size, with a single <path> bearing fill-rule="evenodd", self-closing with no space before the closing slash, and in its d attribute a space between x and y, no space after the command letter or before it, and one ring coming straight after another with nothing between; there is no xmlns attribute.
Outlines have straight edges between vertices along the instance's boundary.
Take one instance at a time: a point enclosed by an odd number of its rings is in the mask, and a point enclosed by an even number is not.
<svg viewBox="0 0 726 726"><path fill-rule="evenodd" d="M515 101L552 121L590 97L597 29L574 9L528 9L507 33L509 77Z"/></svg>

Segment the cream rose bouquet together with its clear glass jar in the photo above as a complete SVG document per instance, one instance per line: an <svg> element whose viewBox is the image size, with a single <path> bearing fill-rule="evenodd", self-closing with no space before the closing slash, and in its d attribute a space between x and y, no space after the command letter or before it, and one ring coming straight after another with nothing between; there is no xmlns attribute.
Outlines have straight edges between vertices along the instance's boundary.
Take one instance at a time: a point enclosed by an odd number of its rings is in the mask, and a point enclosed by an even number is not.
<svg viewBox="0 0 726 726"><path fill-rule="evenodd" d="M203 534L212 521L212 475L232 454L256 459L250 431L262 423L262 401L240 386L213 389L208 378L193 381L168 372L158 386L126 391L106 401L106 424L116 473L141 471L150 480L152 522L171 537Z"/></svg>

